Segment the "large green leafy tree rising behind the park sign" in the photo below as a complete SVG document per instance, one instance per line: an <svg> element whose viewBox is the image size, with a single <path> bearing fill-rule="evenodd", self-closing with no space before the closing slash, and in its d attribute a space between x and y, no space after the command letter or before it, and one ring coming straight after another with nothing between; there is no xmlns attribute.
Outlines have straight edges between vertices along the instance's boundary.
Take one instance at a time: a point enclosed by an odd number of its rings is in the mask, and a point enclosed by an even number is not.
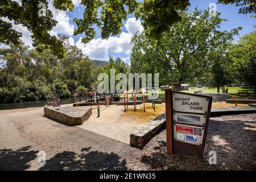
<svg viewBox="0 0 256 182"><path fill-rule="evenodd" d="M208 10L180 15L181 21L173 24L159 41L144 34L135 36L131 69L158 72L160 84L164 85L192 81L209 68L209 52L230 44L241 29L221 31L219 27L225 19L220 18L220 13L210 16Z"/></svg>

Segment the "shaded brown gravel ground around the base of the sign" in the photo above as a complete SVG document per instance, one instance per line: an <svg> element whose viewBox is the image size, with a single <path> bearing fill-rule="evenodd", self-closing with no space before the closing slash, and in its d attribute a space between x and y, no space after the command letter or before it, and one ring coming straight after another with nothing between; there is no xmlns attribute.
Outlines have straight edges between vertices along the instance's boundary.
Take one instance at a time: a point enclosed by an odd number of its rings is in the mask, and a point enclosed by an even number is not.
<svg viewBox="0 0 256 182"><path fill-rule="evenodd" d="M180 154L168 155L156 138L166 140L166 130L143 148L130 148L122 155L134 170L255 170L256 114L211 118L203 158ZM217 154L217 164L210 165L209 152Z"/></svg>

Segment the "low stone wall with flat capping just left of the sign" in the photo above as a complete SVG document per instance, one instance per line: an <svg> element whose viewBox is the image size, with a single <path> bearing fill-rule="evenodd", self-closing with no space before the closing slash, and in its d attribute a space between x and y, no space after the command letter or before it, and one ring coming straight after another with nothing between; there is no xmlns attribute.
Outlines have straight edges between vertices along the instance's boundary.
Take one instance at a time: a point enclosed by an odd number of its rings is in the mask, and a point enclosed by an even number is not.
<svg viewBox="0 0 256 182"><path fill-rule="evenodd" d="M130 146L142 149L148 140L166 128L166 114L161 114L157 118L148 122L140 129L130 134Z"/></svg>

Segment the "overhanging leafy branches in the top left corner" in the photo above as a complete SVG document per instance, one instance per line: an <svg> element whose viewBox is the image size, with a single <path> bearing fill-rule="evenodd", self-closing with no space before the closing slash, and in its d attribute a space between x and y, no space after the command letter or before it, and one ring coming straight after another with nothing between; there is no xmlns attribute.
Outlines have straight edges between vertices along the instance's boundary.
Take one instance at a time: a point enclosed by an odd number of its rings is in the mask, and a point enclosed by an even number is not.
<svg viewBox="0 0 256 182"><path fill-rule="evenodd" d="M42 7L40 3L46 6L45 16L39 15ZM53 5L58 10L73 10L71 0L67 2L55 0ZM20 32L13 28L9 21L2 19L7 18L13 21L14 24L21 24L31 32L34 47L39 46L39 44L45 44L56 56L63 57L63 45L56 36L51 36L48 32L57 24L57 21L53 19L52 11L48 9L48 1L22 0L17 2L2 0L0 1L0 17L0 43L18 45L19 38L22 36Z"/></svg>

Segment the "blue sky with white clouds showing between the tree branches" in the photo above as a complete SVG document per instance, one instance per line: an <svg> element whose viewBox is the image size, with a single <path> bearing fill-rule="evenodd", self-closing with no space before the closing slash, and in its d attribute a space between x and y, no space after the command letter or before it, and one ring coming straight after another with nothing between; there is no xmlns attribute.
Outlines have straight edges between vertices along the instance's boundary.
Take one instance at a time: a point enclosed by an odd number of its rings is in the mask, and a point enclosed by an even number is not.
<svg viewBox="0 0 256 182"><path fill-rule="evenodd" d="M72 0L76 2L78 0ZM246 33L254 31L256 25L256 18L250 18L249 14L238 14L239 7L235 5L222 5L218 4L217 0L190 0L191 6L188 11L198 9L205 10L210 3L216 3L217 11L221 13L221 18L225 18L228 22L221 23L221 30L232 30L232 28L242 27L240 36ZM76 4L76 3L75 3ZM52 6L49 9L53 12L53 18L59 22L56 27L50 31L51 35L63 34L69 37L69 42L82 49L82 53L88 56L90 59L108 61L109 56L121 57L123 61L129 63L130 53L133 45L130 44L131 38L135 32L142 32L143 27L139 20L136 20L133 15L129 15L127 20L123 21L122 33L116 36L111 36L109 39L101 39L101 32L99 28L96 28L97 36L91 40L88 44L81 43L81 38L84 34L73 36L73 31L76 28L76 24L73 22L73 18L82 18L84 9L81 6L75 6L72 13L68 11L55 10ZM6 19L4 19L6 20ZM22 32L22 40L28 46L32 46L31 33L27 28L22 25L14 26L18 31ZM235 40L239 40L239 36L235 37ZM0 45L3 47L3 45Z"/></svg>

